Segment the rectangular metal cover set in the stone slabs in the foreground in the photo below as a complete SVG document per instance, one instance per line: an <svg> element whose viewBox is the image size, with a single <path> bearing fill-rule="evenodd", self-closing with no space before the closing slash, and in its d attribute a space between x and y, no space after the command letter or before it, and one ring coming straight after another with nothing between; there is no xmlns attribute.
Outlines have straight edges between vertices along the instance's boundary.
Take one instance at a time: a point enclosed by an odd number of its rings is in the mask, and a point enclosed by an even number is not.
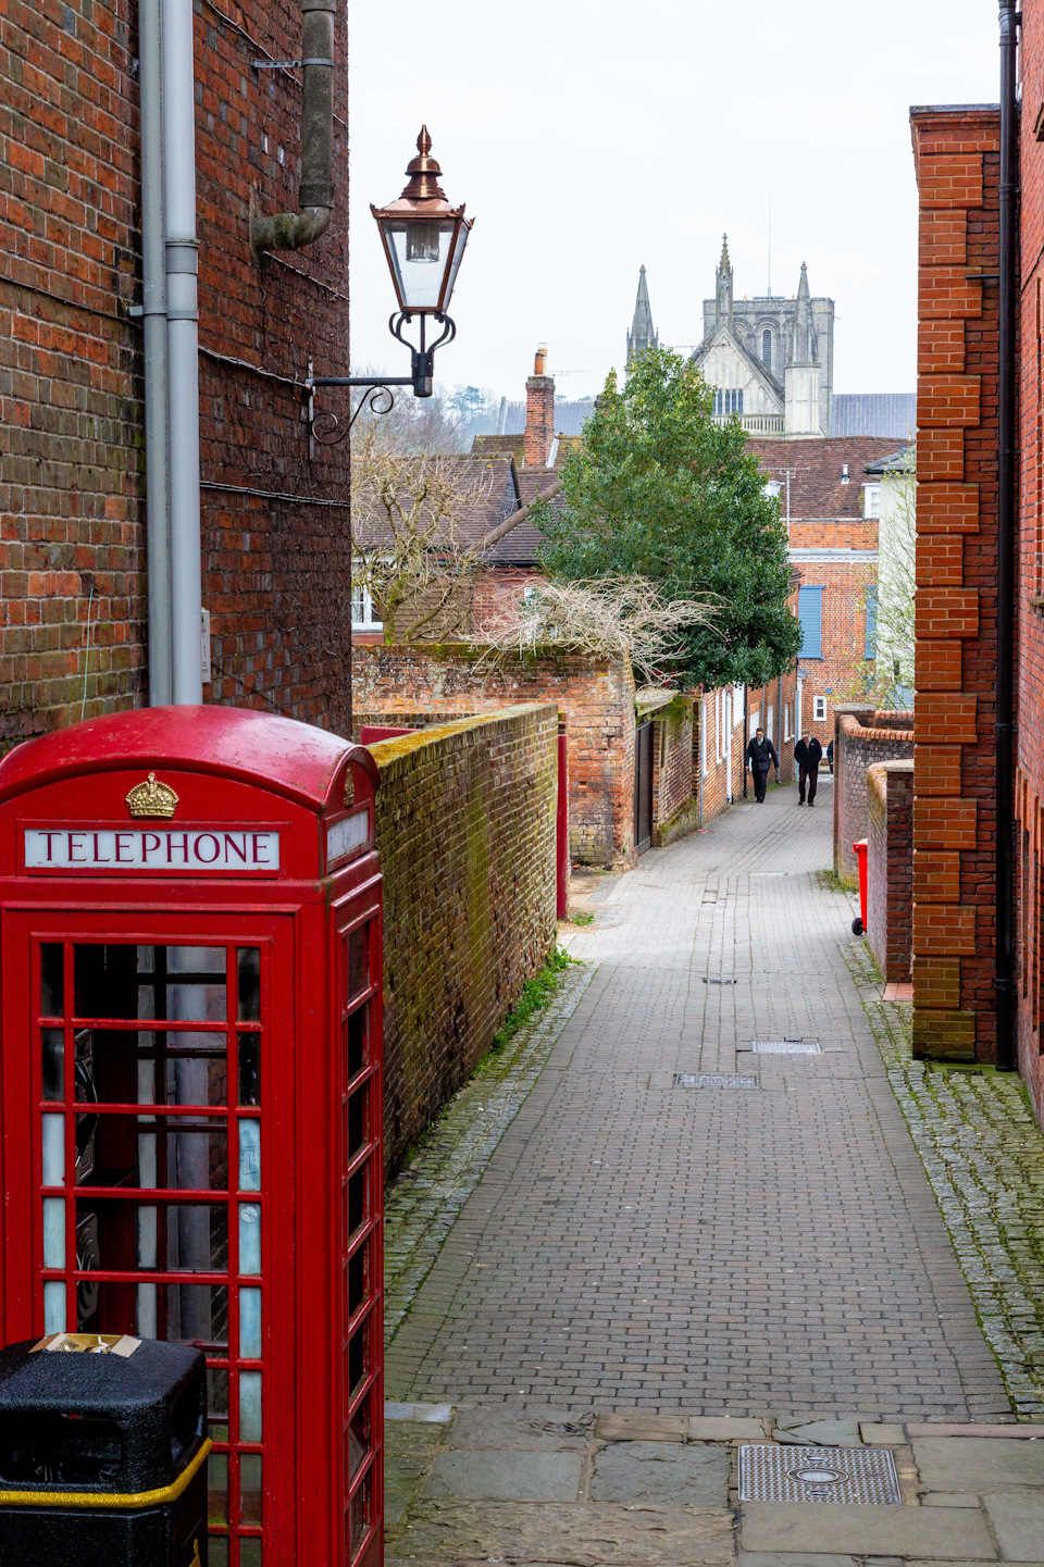
<svg viewBox="0 0 1044 1567"><path fill-rule="evenodd" d="M887 1448L740 1448L740 1501L864 1501L898 1507Z"/></svg>

